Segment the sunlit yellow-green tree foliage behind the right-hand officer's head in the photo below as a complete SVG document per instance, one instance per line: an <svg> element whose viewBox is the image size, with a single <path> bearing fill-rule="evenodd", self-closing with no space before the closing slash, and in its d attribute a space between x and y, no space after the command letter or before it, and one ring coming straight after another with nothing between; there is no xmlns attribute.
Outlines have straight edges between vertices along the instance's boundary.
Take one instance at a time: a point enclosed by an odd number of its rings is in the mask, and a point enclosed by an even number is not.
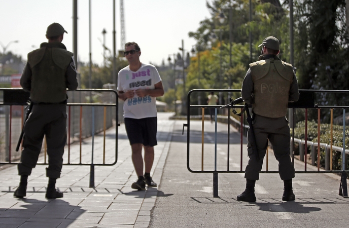
<svg viewBox="0 0 349 228"><path fill-rule="evenodd" d="M273 2L273 4L270 2ZM245 77L250 63L250 30L253 37L253 59L258 59L260 55L258 45L262 43L263 39L266 36L275 35L281 41L281 48L283 49L280 57L285 61L289 61L288 13L281 7L279 1L252 1L254 11L251 23L249 21L250 5L248 0L217 0L213 1L212 4L207 2L206 5L212 17L201 21L196 32L189 32L189 36L197 40L197 47L202 47L204 51L199 52L202 56L200 57L200 66L202 66L200 67L202 68L200 69L200 85L198 85L198 74L195 72L198 60L193 57L188 68L188 91L192 88L220 89L220 85L222 86L221 89L241 88L242 79ZM225 15L229 15L230 7L233 37L231 47L229 20L225 20L223 24L217 21L217 15L221 11ZM212 41L211 34L217 31L215 29L220 29L222 32L222 42L220 40ZM221 54L222 75L220 76Z"/></svg>

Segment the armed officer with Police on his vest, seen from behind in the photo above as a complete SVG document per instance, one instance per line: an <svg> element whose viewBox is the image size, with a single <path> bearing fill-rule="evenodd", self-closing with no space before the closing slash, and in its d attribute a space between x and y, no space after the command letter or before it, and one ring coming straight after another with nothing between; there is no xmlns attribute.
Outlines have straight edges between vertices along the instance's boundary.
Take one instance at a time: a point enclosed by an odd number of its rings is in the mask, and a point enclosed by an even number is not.
<svg viewBox="0 0 349 228"><path fill-rule="evenodd" d="M237 200L255 202L255 183L259 179L268 140L278 161L278 172L284 180L283 201L295 200L292 179L295 170L290 158L290 127L286 119L289 102L299 98L298 82L291 64L277 57L280 43L274 36L263 40L259 61L251 63L242 82L242 99L252 104L253 130L248 131L249 163L245 169L246 189ZM247 110L249 111L249 110ZM253 136L255 140L253 139ZM253 147L258 155L254 155Z"/></svg>

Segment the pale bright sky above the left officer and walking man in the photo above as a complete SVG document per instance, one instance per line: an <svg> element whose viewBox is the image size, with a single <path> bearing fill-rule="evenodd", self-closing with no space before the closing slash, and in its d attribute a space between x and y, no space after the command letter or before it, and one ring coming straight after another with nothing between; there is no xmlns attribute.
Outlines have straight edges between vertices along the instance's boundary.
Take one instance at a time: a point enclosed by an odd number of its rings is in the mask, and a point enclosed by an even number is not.
<svg viewBox="0 0 349 228"><path fill-rule="evenodd" d="M124 0L126 42L141 48L141 62L160 65L168 56L184 49L190 52L200 21L210 18L206 0ZM208 0L212 2L212 0ZM120 0L116 5L116 49L120 47ZM73 52L73 0L0 0L0 45L27 59L27 53L47 42L47 26L60 23L68 32L62 43ZM91 58L103 63L103 34L106 47L113 50L113 0L91 0ZM13 41L18 41L15 43ZM0 48L3 52L3 48ZM89 0L78 0L78 59L89 62Z"/></svg>

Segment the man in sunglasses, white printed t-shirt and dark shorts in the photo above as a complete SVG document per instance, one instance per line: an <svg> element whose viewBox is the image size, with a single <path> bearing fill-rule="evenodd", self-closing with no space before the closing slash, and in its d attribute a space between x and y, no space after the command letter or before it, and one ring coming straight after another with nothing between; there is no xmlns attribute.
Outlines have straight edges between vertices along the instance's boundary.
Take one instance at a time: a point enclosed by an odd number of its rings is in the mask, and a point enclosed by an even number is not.
<svg viewBox="0 0 349 228"><path fill-rule="evenodd" d="M138 180L131 187L145 190L146 184L148 187L157 186L150 176L154 146L157 145L155 101L156 97L164 94L164 90L155 66L139 61L141 48L136 43L126 43L124 55L129 65L118 73L117 90L119 99L124 101L125 128L132 149L133 166L138 176Z"/></svg>

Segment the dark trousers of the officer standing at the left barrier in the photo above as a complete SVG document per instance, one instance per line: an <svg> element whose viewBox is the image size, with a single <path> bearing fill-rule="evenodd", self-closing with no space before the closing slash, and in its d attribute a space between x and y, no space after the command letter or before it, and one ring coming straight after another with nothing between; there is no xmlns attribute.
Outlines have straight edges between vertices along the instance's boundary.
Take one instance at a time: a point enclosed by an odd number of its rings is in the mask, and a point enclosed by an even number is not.
<svg viewBox="0 0 349 228"><path fill-rule="evenodd" d="M66 104L34 104L24 125L19 175L30 175L38 162L46 136L48 168L46 176L59 178L66 143Z"/></svg>

